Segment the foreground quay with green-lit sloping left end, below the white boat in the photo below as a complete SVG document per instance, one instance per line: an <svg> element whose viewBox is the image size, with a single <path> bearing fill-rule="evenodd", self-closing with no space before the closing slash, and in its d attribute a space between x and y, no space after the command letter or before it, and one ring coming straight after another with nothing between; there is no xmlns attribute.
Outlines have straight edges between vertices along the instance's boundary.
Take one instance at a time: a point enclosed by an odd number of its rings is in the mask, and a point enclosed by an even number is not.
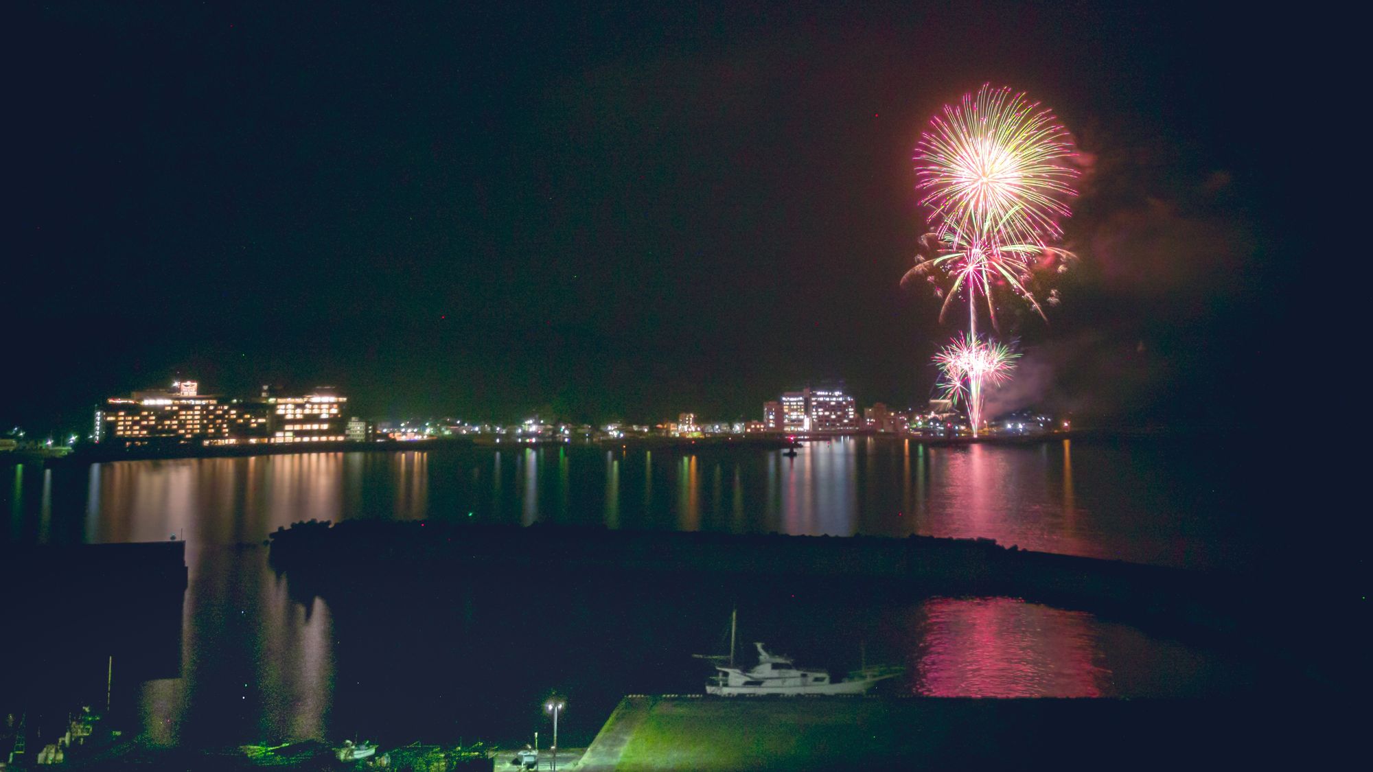
<svg viewBox="0 0 1373 772"><path fill-rule="evenodd" d="M1277 701L632 695L586 772L1157 769L1337 765L1357 736L1328 705Z"/></svg>

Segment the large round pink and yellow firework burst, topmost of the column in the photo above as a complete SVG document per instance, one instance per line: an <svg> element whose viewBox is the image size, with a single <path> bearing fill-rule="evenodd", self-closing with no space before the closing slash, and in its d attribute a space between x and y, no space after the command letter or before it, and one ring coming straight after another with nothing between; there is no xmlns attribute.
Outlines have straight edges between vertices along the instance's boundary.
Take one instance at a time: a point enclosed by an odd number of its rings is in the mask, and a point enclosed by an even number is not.
<svg viewBox="0 0 1373 772"><path fill-rule="evenodd" d="M1076 195L1067 129L1038 103L983 85L945 106L916 148L921 205L941 239L1043 245ZM956 246L962 246L954 240Z"/></svg>

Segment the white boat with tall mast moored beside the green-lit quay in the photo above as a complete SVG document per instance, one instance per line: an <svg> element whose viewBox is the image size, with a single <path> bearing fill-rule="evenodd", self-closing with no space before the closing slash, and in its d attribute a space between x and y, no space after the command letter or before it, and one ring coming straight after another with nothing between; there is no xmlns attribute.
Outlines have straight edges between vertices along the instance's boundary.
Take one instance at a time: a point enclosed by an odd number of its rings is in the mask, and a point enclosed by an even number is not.
<svg viewBox="0 0 1373 772"><path fill-rule="evenodd" d="M715 661L715 674L706 683L706 694L721 696L741 695L807 695L807 694L864 694L877 681L894 679L905 672L899 666L864 666L853 670L847 677L838 681L829 679L828 670L809 670L798 668L791 657L773 654L762 643L758 647L758 665L744 670L735 666L735 628L736 617L730 617L729 624L729 657L702 657ZM722 661L728 659L728 665Z"/></svg>

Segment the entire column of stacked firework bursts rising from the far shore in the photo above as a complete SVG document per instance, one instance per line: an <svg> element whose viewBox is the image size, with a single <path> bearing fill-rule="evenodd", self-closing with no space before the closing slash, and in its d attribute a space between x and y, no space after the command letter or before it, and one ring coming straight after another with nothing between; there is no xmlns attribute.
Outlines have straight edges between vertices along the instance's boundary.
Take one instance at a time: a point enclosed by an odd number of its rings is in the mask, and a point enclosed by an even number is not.
<svg viewBox="0 0 1373 772"><path fill-rule="evenodd" d="M1053 113L990 84L945 106L916 147L920 203L931 210L932 232L921 238L916 265L901 283L919 276L934 283L943 297L941 321L953 298L967 294L968 334L942 349L935 363L947 394L967 402L973 437L982 424L983 383L1005 381L1017 356L978 338L978 293L994 328L997 287L1009 287L1045 317L1030 276L1053 265L1061 272L1074 257L1052 246L1063 236L1059 221L1071 214L1067 201L1076 195L1074 152ZM947 290L938 276L950 279ZM1057 299L1052 291L1046 302Z"/></svg>

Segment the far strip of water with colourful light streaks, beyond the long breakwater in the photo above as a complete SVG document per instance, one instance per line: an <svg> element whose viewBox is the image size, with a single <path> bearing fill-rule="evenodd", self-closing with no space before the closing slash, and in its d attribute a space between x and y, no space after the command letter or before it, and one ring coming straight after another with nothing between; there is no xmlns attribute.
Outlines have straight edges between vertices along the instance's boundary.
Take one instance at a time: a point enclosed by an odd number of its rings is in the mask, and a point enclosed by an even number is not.
<svg viewBox="0 0 1373 772"><path fill-rule="evenodd" d="M523 525L552 518L612 527L989 537L1026 549L1166 565L1205 565L1218 545L1234 548L1234 534L1208 530L1223 521L1197 516L1221 508L1222 486L1196 475L1189 456L1086 448L1081 441L934 448L861 438L805 444L795 457L559 446L556 464L541 463L551 451L524 448L515 451L515 468L508 451L476 449L118 462L80 473L30 464L15 468L0 497L10 499L7 534L16 540L174 534L238 544L310 518L471 511L486 522ZM662 485L673 495L662 496ZM67 493L73 489L80 503ZM626 490L638 495L626 497ZM80 516L63 519L76 506Z"/></svg>

